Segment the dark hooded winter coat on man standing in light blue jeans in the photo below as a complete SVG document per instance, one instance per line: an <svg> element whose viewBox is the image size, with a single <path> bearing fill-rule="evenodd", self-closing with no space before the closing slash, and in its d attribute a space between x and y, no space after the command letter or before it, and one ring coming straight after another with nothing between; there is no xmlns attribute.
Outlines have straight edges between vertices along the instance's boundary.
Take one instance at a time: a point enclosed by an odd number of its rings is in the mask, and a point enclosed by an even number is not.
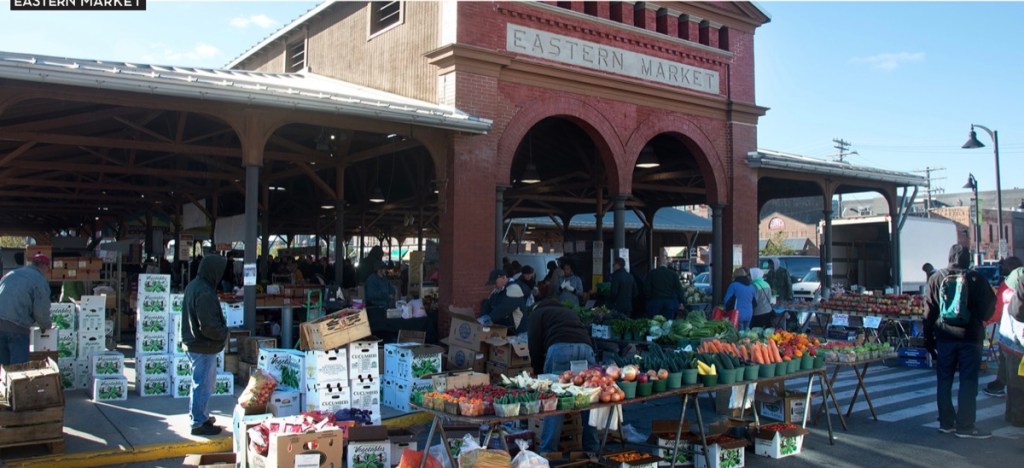
<svg viewBox="0 0 1024 468"><path fill-rule="evenodd" d="M181 343L188 352L216 354L224 349L227 323L220 311L217 283L224 274L227 259L206 255L197 276L185 287L181 304Z"/></svg>

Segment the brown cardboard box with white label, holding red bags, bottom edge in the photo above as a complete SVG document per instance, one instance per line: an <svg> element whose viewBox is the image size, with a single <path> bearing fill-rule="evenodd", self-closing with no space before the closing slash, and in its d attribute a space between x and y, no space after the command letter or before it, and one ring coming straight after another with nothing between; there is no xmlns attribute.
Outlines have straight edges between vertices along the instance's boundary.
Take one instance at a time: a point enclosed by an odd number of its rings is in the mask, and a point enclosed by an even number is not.
<svg viewBox="0 0 1024 468"><path fill-rule="evenodd" d="M307 449L307 448L315 449ZM337 467L344 449L342 432L337 429L305 434L282 434L270 437L266 457L248 450L253 468ZM349 465L352 466L352 465Z"/></svg>

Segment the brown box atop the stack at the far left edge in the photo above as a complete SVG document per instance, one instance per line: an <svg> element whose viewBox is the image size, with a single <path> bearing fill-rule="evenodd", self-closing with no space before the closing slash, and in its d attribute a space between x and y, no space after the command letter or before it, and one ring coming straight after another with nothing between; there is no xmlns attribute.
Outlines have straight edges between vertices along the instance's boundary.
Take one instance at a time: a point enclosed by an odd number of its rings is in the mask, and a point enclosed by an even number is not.
<svg viewBox="0 0 1024 468"><path fill-rule="evenodd" d="M60 368L52 359L0 366L0 407L22 412L63 405Z"/></svg>

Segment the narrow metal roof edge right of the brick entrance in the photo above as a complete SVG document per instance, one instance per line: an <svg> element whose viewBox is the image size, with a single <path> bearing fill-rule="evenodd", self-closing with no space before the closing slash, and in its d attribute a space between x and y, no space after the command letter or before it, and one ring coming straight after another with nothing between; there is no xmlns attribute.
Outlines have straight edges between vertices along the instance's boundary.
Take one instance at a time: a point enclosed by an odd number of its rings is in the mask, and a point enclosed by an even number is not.
<svg viewBox="0 0 1024 468"><path fill-rule="evenodd" d="M855 179L894 183L897 186L925 186L928 184L928 179L925 176L909 172L890 171L838 161L820 160L771 150L758 150L748 153L746 163L753 168L778 169L818 175L840 175Z"/></svg>

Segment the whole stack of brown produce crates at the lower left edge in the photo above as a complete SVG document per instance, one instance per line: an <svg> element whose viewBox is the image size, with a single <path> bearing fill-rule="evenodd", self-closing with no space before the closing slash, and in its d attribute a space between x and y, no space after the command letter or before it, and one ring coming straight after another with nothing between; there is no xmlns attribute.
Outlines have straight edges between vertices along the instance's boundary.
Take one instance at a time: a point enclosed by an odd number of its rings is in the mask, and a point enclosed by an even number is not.
<svg viewBox="0 0 1024 468"><path fill-rule="evenodd" d="M53 359L0 366L0 449L46 444L63 452L62 387Z"/></svg>

